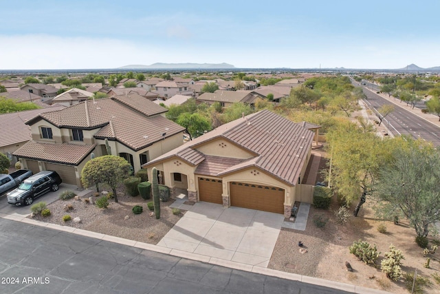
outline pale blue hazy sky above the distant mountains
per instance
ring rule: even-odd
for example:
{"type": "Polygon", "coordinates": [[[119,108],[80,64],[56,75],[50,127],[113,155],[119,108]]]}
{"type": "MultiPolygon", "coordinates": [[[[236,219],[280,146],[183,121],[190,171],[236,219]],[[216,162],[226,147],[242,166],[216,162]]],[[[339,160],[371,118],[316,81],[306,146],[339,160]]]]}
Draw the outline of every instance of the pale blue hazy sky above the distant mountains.
{"type": "Polygon", "coordinates": [[[0,70],[440,66],[440,1],[1,1],[0,70]]]}

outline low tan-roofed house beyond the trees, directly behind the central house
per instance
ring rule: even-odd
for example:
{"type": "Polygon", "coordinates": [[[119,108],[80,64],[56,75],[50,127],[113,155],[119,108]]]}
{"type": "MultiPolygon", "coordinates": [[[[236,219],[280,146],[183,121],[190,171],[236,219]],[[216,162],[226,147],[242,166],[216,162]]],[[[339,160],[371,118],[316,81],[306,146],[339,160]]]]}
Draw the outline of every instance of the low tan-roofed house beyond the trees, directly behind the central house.
{"type": "Polygon", "coordinates": [[[217,90],[214,93],[203,93],[197,97],[197,101],[205,102],[212,105],[216,102],[221,103],[223,107],[229,107],[233,103],[248,103],[253,105],[255,103],[257,95],[252,94],[251,91],[223,91],[217,90]]]}

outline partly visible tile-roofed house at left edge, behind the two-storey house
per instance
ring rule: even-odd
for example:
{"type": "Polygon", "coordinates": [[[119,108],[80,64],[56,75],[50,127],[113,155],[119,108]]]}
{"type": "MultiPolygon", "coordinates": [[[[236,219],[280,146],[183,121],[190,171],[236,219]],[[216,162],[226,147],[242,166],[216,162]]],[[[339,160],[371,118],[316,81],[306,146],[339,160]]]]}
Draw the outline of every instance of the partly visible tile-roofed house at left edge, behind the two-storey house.
{"type": "Polygon", "coordinates": [[[26,125],[26,122],[44,112],[53,112],[64,108],[63,106],[46,106],[47,108],[26,110],[25,112],[0,114],[0,152],[8,156],[11,165],[14,165],[18,160],[17,156],[12,156],[14,151],[32,138],[30,126],[26,125]]]}

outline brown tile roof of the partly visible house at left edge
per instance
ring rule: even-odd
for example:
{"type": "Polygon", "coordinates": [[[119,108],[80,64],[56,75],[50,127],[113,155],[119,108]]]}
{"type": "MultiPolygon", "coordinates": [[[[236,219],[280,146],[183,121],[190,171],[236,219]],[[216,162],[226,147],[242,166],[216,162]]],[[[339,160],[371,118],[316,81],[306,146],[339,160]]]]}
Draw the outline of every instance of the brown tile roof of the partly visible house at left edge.
{"type": "Polygon", "coordinates": [[[43,112],[50,112],[65,108],[64,106],[34,109],[25,112],[0,115],[0,147],[28,141],[32,138],[30,126],[25,122],[43,112]]]}

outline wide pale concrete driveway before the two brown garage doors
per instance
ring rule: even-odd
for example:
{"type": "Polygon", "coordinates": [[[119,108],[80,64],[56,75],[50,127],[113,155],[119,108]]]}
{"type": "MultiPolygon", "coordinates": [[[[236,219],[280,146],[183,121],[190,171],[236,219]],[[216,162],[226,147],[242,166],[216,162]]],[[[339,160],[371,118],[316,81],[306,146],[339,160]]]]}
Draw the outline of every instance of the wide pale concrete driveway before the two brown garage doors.
{"type": "Polygon", "coordinates": [[[278,213],[197,202],[157,245],[267,267],[283,221],[278,213]]]}

